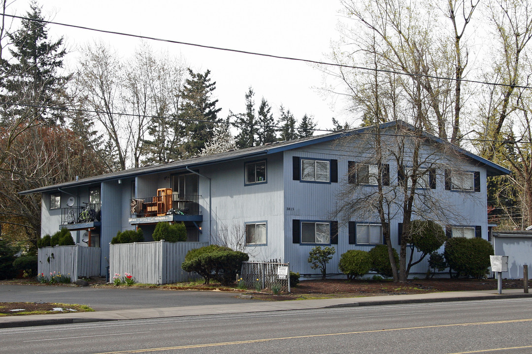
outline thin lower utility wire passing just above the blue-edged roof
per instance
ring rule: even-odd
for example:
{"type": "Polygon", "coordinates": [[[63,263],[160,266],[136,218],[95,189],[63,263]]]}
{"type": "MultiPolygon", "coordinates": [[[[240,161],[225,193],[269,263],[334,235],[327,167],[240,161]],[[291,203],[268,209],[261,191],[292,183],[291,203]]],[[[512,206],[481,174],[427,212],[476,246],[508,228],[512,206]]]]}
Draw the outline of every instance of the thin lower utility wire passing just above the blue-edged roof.
{"type": "MultiPolygon", "coordinates": [[[[213,122],[212,120],[206,120],[206,119],[194,119],[194,118],[178,118],[178,117],[162,117],[162,116],[154,116],[154,115],[143,115],[143,114],[134,114],[134,113],[115,113],[115,112],[108,112],[108,111],[101,111],[101,110],[92,110],[92,109],[81,109],[81,108],[68,108],[68,107],[53,107],[53,106],[41,106],[41,105],[29,105],[26,103],[12,103],[12,102],[2,102],[0,101],[0,105],[11,105],[11,106],[23,106],[23,107],[31,107],[31,108],[51,108],[51,109],[59,109],[59,110],[67,110],[67,111],[75,111],[79,113],[93,113],[93,114],[110,114],[110,115],[117,115],[117,116],[127,116],[127,117],[142,117],[142,118],[152,118],[152,119],[173,119],[173,120],[179,120],[181,122],[197,122],[197,123],[208,123],[208,124],[227,124],[227,125],[243,125],[243,126],[256,126],[256,127],[271,127],[276,128],[282,131],[282,129],[285,129],[284,126],[278,126],[278,125],[264,125],[264,124],[251,124],[251,123],[245,123],[245,122],[226,122],[226,121],[219,121],[219,122],[213,122]]],[[[76,118],[73,118],[76,119],[76,118]]],[[[297,127],[294,127],[295,130],[303,130],[303,131],[313,131],[313,132],[327,132],[327,133],[346,133],[345,130],[329,130],[329,129],[319,129],[319,128],[305,128],[300,129],[297,127]]],[[[357,128],[353,128],[357,129],[357,128]]],[[[0,131],[2,132],[2,131],[0,131]]],[[[3,131],[6,132],[6,131],[3,131]]],[[[388,133],[373,133],[373,132],[358,132],[357,134],[365,134],[365,135],[382,135],[382,136],[394,136],[394,137],[412,137],[412,135],[406,135],[406,134],[388,134],[388,133]]],[[[437,139],[443,139],[436,136],[437,139]]],[[[477,141],[477,142],[494,142],[494,143],[506,143],[506,144],[516,144],[516,141],[508,141],[508,140],[491,140],[491,139],[472,139],[472,138],[466,138],[461,137],[457,140],[463,140],[463,141],[477,141]]],[[[532,142],[522,142],[522,143],[532,143],[532,142]]]]}

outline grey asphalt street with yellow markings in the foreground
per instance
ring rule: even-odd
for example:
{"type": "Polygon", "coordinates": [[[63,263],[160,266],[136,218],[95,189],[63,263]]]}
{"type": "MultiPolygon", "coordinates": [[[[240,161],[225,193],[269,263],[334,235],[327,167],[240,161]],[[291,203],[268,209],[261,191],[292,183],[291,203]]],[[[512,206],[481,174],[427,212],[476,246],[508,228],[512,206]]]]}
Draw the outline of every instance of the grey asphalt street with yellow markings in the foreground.
{"type": "Polygon", "coordinates": [[[532,299],[309,309],[0,330],[2,353],[530,353],[532,299]],[[28,333],[31,333],[28,335],[28,333]]]}

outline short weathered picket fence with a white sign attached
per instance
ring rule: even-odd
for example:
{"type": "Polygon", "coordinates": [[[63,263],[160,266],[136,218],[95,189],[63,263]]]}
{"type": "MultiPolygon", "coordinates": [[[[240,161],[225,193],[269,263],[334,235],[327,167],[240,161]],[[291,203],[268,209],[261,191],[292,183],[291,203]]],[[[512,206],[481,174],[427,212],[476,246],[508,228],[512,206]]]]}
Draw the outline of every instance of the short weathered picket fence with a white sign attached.
{"type": "Polygon", "coordinates": [[[277,287],[279,292],[290,292],[290,263],[242,262],[238,281],[248,289],[270,289],[277,287]],[[242,280],[240,280],[242,278],[242,280]]]}

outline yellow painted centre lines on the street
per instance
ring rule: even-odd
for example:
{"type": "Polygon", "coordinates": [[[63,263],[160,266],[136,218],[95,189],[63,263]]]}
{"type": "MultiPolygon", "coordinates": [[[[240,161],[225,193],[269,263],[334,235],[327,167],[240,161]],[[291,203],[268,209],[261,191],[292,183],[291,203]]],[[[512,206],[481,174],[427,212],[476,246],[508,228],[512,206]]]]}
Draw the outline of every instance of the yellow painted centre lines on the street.
{"type": "MultiPolygon", "coordinates": [[[[453,327],[453,326],[478,326],[478,325],[486,325],[486,324],[516,323],[516,322],[532,322],[532,318],[525,318],[523,320],[506,320],[506,321],[488,321],[488,322],[472,322],[472,323],[439,324],[439,325],[433,325],[433,326],[403,327],[403,328],[393,328],[393,329],[387,329],[387,330],[383,329],[383,330],[357,331],[357,332],[296,335],[296,336],[292,336],[292,337],[252,339],[252,340],[247,340],[247,341],[219,342],[219,343],[206,343],[206,344],[191,344],[189,346],[151,348],[151,349],[136,349],[136,350],[123,350],[123,351],[109,351],[109,352],[97,353],[97,354],[144,353],[144,352],[150,352],[150,351],[165,351],[165,350],[188,349],[188,348],[206,348],[206,347],[217,347],[217,346],[231,346],[231,345],[235,345],[235,344],[260,343],[260,342],[277,341],[277,340],[285,340],[285,339],[316,338],[316,337],[345,335],[345,334],[392,332],[392,331],[418,330],[418,329],[438,328],[438,327],[453,327]]],[[[518,348],[532,348],[532,346],[530,346],[530,347],[506,348],[506,349],[518,349],[518,348]]],[[[488,349],[488,350],[468,351],[468,352],[463,352],[463,353],[452,353],[452,354],[479,353],[479,352],[483,352],[483,351],[495,351],[495,350],[503,350],[503,349],[488,349]]]]}

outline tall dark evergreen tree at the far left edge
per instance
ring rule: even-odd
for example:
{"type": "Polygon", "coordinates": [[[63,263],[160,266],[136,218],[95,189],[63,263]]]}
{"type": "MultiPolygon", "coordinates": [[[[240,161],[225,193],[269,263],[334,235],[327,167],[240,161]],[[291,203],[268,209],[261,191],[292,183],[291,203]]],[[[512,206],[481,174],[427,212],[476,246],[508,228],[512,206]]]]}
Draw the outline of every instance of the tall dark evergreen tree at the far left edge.
{"type": "Polygon", "coordinates": [[[49,123],[63,122],[60,108],[64,106],[64,86],[70,76],[61,76],[57,71],[63,66],[66,54],[63,38],[48,40],[48,31],[41,8],[30,3],[26,14],[29,20],[21,20],[21,28],[9,34],[12,48],[11,64],[7,64],[7,78],[3,82],[3,123],[49,123]]]}

